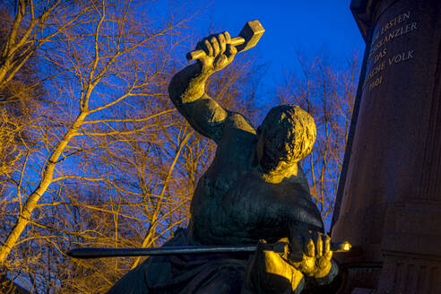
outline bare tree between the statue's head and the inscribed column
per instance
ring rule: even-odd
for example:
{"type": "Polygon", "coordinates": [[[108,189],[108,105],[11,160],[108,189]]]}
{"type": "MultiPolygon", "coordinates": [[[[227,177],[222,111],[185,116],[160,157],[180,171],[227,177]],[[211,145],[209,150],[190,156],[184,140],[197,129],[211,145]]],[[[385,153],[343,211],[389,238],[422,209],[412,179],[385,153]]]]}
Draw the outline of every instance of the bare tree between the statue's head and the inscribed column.
{"type": "Polygon", "coordinates": [[[278,88],[278,98],[281,103],[293,103],[306,109],[316,121],[316,144],[302,165],[326,224],[331,220],[342,169],[359,57],[354,54],[346,64],[337,65],[324,56],[307,57],[298,53],[298,62],[301,73],[285,74],[285,83],[278,88]]]}

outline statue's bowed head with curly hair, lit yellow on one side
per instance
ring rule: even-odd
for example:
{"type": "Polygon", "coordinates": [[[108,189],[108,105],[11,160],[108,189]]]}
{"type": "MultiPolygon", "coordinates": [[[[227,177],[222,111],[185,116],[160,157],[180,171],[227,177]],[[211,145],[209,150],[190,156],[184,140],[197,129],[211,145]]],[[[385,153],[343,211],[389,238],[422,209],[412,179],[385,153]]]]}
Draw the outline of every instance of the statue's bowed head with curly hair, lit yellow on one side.
{"type": "Polygon", "coordinates": [[[272,108],[257,129],[257,159],[265,172],[288,168],[303,159],[316,141],[316,124],[296,105],[272,108]]]}

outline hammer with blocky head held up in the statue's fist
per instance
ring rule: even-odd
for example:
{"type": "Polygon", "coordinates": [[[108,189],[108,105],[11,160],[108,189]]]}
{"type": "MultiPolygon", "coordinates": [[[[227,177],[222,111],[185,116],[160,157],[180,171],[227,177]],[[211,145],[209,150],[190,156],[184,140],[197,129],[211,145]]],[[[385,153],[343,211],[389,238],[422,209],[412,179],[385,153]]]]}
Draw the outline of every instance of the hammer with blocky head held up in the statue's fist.
{"type": "MultiPolygon", "coordinates": [[[[229,40],[229,44],[235,46],[238,52],[245,51],[249,48],[255,47],[260,37],[264,34],[264,27],[259,21],[254,20],[246,22],[244,28],[240,30],[238,37],[229,40]]],[[[205,51],[195,50],[186,54],[186,59],[192,61],[205,56],[205,51]]]]}

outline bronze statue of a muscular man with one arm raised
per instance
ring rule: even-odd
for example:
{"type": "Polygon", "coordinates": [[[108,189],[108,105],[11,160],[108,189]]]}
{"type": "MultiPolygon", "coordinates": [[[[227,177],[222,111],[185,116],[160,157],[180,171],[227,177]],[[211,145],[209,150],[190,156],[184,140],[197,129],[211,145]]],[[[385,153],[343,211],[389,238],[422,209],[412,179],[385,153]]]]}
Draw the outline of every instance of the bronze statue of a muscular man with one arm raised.
{"type": "Polygon", "coordinates": [[[228,32],[203,39],[198,61],[177,73],[169,97],[193,128],[218,148],[199,179],[188,229],[165,246],[255,245],[253,255],[151,257],[108,293],[300,293],[335,280],[331,239],[298,160],[316,140],[314,119],[294,105],[272,108],[257,129],[204,92],[212,73],[237,53],[228,32]],[[284,253],[264,250],[285,241],[284,253]]]}

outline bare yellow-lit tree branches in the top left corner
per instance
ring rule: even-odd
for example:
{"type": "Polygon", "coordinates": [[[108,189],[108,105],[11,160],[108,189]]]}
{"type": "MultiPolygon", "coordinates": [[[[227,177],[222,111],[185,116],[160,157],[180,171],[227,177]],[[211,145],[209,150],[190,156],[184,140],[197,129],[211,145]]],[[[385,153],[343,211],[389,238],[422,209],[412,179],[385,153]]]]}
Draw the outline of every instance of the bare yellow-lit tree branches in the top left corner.
{"type": "Polygon", "coordinates": [[[92,9],[93,5],[69,0],[4,1],[0,15],[0,89],[13,80],[40,48],[77,26],[92,9]]]}

